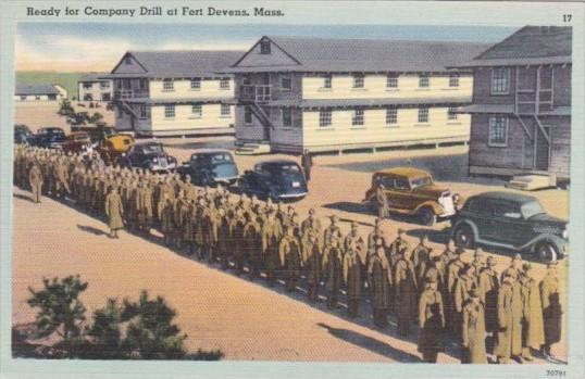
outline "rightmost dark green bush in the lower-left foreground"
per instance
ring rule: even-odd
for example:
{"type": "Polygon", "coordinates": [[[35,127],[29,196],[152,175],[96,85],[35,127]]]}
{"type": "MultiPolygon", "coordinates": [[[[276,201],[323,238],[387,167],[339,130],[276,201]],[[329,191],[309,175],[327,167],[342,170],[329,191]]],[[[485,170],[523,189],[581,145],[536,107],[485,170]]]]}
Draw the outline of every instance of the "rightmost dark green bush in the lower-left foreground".
{"type": "Polygon", "coordinates": [[[138,302],[124,301],[123,319],[129,323],[123,346],[130,356],[142,359],[179,359],[186,354],[183,342],[187,338],[173,324],[176,312],[162,296],[148,299],[142,291],[138,302]]]}

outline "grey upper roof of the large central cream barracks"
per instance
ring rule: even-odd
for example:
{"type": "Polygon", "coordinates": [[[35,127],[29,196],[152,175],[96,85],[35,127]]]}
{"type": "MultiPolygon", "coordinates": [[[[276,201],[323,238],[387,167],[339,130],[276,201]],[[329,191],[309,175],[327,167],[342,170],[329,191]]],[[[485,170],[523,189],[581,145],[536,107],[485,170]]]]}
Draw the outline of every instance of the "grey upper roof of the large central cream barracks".
{"type": "MultiPolygon", "coordinates": [[[[297,72],[443,72],[466,62],[489,47],[486,43],[263,37],[288,54],[297,72]],[[298,62],[294,64],[292,62],[298,62]]],[[[231,72],[254,71],[234,65],[231,72]]],[[[258,70],[257,70],[258,71],[258,70]]]]}

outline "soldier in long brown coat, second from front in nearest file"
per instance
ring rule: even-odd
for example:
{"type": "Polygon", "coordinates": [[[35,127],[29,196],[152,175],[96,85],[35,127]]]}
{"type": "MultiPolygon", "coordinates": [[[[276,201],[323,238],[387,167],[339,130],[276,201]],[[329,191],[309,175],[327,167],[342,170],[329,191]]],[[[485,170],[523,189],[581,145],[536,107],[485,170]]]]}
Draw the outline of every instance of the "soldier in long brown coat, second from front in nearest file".
{"type": "Polygon", "coordinates": [[[410,260],[410,252],[402,248],[400,258],[396,262],[394,277],[395,307],[398,316],[398,333],[408,336],[410,323],[416,318],[416,276],[410,260]]]}

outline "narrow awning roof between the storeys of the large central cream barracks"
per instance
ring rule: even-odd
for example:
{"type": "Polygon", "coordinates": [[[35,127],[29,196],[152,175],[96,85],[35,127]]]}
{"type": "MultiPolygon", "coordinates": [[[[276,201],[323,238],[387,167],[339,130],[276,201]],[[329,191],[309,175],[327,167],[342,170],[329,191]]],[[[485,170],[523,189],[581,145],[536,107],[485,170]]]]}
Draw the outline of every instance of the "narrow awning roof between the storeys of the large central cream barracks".
{"type": "Polygon", "coordinates": [[[468,104],[471,97],[445,97],[445,98],[413,98],[413,99],[284,99],[270,102],[274,106],[299,106],[299,108],[343,108],[343,106],[387,106],[387,105],[421,105],[421,104],[468,104]]]}

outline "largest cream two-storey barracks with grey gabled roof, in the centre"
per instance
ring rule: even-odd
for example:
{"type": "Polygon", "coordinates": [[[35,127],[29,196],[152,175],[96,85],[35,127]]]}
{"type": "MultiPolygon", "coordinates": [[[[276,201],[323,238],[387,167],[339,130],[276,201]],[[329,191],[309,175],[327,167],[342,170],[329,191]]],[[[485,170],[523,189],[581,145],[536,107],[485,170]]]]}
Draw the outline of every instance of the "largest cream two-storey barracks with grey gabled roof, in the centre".
{"type": "Polygon", "coordinates": [[[486,45],[262,37],[226,71],[238,144],[298,153],[466,143],[468,62],[486,45]]]}

